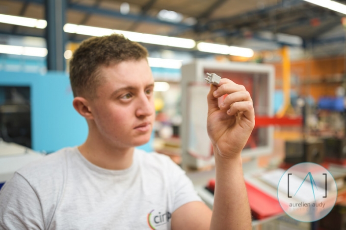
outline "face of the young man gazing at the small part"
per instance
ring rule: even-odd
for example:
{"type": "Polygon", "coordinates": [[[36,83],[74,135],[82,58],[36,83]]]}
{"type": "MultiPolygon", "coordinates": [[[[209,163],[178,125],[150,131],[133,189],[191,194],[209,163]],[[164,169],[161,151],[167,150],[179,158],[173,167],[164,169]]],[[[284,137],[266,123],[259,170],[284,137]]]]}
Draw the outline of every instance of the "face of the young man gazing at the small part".
{"type": "Polygon", "coordinates": [[[90,107],[96,128],[117,147],[145,144],[155,120],[154,78],[145,59],[103,67],[102,84],[90,107]]]}

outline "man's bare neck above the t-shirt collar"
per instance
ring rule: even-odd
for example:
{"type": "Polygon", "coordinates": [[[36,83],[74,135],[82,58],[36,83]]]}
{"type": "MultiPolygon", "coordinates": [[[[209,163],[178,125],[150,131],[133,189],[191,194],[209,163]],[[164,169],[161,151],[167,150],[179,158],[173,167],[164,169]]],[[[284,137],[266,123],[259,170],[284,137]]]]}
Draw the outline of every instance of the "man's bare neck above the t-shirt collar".
{"type": "Polygon", "coordinates": [[[99,137],[91,137],[89,133],[86,141],[78,147],[86,160],[99,167],[111,170],[122,170],[132,165],[134,147],[117,148],[99,137]]]}

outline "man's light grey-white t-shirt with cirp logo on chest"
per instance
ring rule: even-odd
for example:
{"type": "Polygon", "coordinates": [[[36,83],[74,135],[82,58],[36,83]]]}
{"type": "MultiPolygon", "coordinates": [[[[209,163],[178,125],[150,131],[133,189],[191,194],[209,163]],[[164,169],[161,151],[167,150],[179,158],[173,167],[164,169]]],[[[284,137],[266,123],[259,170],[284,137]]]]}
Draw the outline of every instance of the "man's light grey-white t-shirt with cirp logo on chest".
{"type": "Polygon", "coordinates": [[[108,170],[64,148],[18,170],[0,190],[0,229],[170,230],[171,215],[201,201],[168,157],[135,149],[133,164],[108,170]]]}

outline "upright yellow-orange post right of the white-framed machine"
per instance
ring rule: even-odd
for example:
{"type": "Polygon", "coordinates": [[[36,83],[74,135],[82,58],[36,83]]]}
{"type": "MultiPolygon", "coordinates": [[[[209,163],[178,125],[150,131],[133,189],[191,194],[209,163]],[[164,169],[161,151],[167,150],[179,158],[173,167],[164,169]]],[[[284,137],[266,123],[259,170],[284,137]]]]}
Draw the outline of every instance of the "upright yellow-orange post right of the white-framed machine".
{"type": "Polygon", "coordinates": [[[282,47],[282,90],[284,94],[284,104],[276,113],[277,117],[283,117],[291,106],[291,60],[289,46],[282,47]]]}

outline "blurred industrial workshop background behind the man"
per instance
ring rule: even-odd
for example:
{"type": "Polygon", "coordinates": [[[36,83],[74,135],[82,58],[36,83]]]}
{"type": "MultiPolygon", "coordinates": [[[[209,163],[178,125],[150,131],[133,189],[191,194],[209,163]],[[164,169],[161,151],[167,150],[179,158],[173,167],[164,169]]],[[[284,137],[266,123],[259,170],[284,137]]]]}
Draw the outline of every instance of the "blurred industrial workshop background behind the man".
{"type": "Polygon", "coordinates": [[[85,140],[69,60],[81,41],[114,32],[148,49],[156,81],[156,123],[140,148],[182,166],[208,206],[207,72],[254,101],[242,153],[253,229],[346,229],[346,0],[0,0],[0,187],[85,140]],[[312,223],[286,215],[263,176],[307,161],[337,185],[335,207],[312,223]]]}

